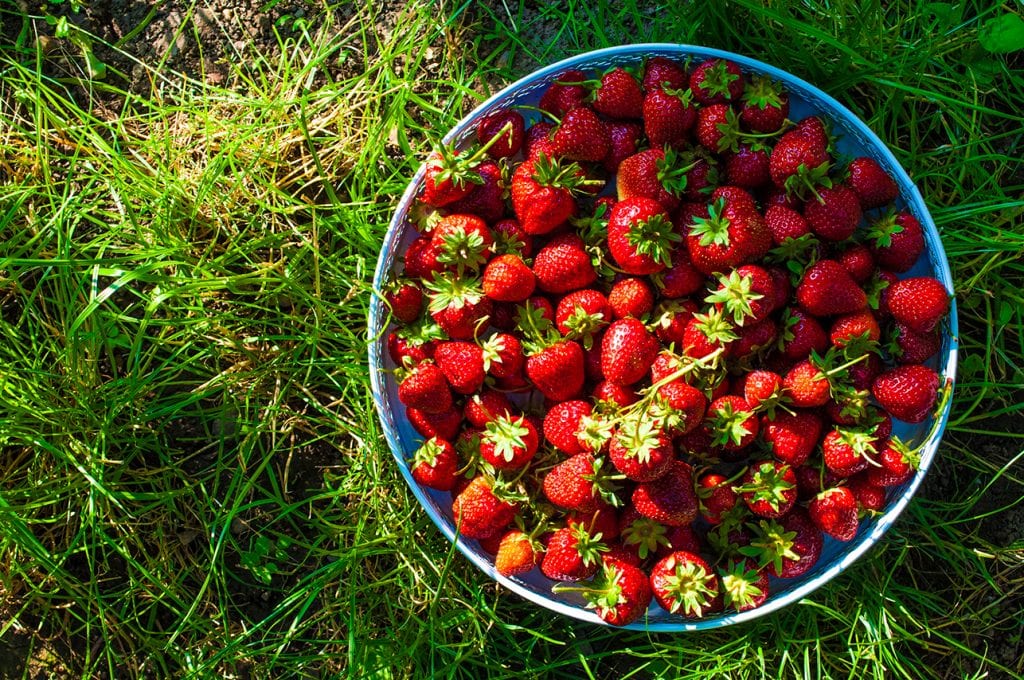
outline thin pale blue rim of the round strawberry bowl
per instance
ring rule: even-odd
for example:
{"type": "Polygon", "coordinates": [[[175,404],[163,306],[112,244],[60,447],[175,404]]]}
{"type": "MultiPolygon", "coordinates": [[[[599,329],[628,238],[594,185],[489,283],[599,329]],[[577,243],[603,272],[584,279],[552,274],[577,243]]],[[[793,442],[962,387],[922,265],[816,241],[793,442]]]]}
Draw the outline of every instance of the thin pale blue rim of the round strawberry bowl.
{"type": "MultiPolygon", "coordinates": [[[[658,622],[651,623],[647,621],[646,617],[629,624],[627,626],[616,627],[624,630],[641,630],[648,632],[662,632],[662,633],[674,633],[683,631],[696,631],[696,630],[710,630],[715,628],[721,628],[725,626],[731,626],[734,624],[744,623],[752,621],[754,619],[764,617],[768,613],[782,609],[783,607],[799,602],[803,600],[807,595],[817,590],[821,586],[825,585],[831,581],[835,577],[839,576],[843,570],[849,567],[853,562],[861,557],[867,550],[869,550],[876,543],[878,543],[882,537],[889,530],[892,524],[900,516],[906,506],[909,504],[910,500],[913,498],[918,488],[920,487],[928,469],[931,467],[932,461],[938,451],[939,443],[942,438],[942,434],[945,430],[945,426],[949,419],[950,410],[952,407],[952,390],[955,385],[956,377],[956,364],[958,354],[958,323],[956,315],[956,301],[955,297],[952,295],[953,283],[952,273],[949,268],[949,262],[945,253],[945,249],[942,247],[941,238],[938,228],[931,216],[928,206],[925,203],[924,197],[918,185],[911,180],[909,174],[903,168],[902,164],[896,159],[893,152],[889,146],[882,141],[882,139],[871,130],[867,125],[861,121],[861,119],[851,112],[847,107],[842,104],[836,98],[834,98],[828,93],[824,92],[820,88],[806,80],[795,76],[788,72],[782,71],[777,67],[773,67],[769,63],[765,63],[759,59],[749,57],[743,54],[737,54],[734,52],[714,48],[706,47],[700,45],[691,45],[685,43],[633,43],[628,45],[618,45],[613,47],[605,47],[597,50],[591,50],[587,52],[581,52],[572,56],[565,57],[553,63],[550,63],[542,69],[534,71],[522,78],[517,79],[515,82],[502,88],[500,91],[494,95],[486,98],[484,101],[479,103],[473,109],[472,112],[463,117],[453,128],[444,135],[442,141],[444,143],[450,143],[464,134],[466,134],[471,127],[475,124],[476,120],[481,115],[481,112],[495,108],[496,104],[502,102],[504,99],[508,98],[510,94],[524,88],[526,85],[543,81],[545,79],[556,76],[557,74],[566,71],[568,69],[577,67],[586,67],[595,60],[605,58],[605,57],[635,57],[635,56],[648,56],[651,53],[674,55],[678,57],[698,57],[698,58],[723,58],[729,59],[736,62],[741,68],[748,71],[754,71],[758,73],[765,74],[772,78],[773,80],[780,81],[783,83],[795,84],[798,88],[806,90],[813,93],[817,98],[819,98],[823,103],[825,103],[829,109],[835,110],[842,115],[846,123],[849,123],[854,127],[858,133],[863,135],[866,140],[871,144],[872,152],[878,153],[885,158],[890,169],[892,169],[898,176],[896,177],[898,184],[901,189],[907,189],[909,196],[906,196],[907,206],[913,206],[913,212],[919,217],[919,221],[922,222],[922,227],[926,231],[926,238],[933,241],[939,246],[938,252],[932,253],[931,262],[935,267],[934,275],[942,282],[946,290],[950,293],[950,308],[945,325],[947,328],[947,338],[949,342],[948,353],[946,355],[946,360],[944,366],[939,367],[939,372],[941,376],[945,377],[945,387],[950,391],[949,398],[945,399],[945,405],[941,412],[936,415],[935,423],[932,431],[928,434],[928,438],[923,442],[921,465],[918,472],[907,483],[906,486],[902,488],[902,493],[898,498],[895,498],[886,509],[884,513],[877,516],[871,524],[870,528],[864,534],[860,535],[858,533],[857,543],[849,548],[844,553],[837,556],[833,563],[827,565],[826,568],[817,571],[814,576],[807,580],[806,583],[800,584],[792,589],[786,590],[778,597],[769,597],[768,600],[761,606],[754,609],[748,609],[740,612],[732,612],[722,615],[716,615],[710,619],[701,620],[683,620],[680,619],[672,622],[658,622]]],[[[833,117],[831,112],[824,112],[833,117]]],[[[374,403],[376,407],[377,415],[381,425],[383,426],[384,436],[387,440],[388,447],[391,450],[392,456],[398,463],[399,471],[406,479],[407,484],[412,490],[417,501],[423,506],[424,510],[427,511],[428,516],[434,522],[434,524],[440,529],[441,534],[453,544],[453,546],[458,549],[465,557],[467,557],[473,564],[475,564],[479,569],[481,569],[488,577],[497,581],[499,584],[508,588],[509,590],[515,592],[519,596],[525,598],[526,600],[540,604],[545,608],[556,611],[558,613],[577,619],[580,621],[586,621],[589,623],[605,625],[603,620],[601,620],[593,610],[583,609],[575,605],[559,602],[557,600],[549,599],[540,596],[535,591],[531,591],[514,580],[508,579],[500,573],[498,573],[494,564],[485,559],[481,558],[475,551],[473,551],[465,542],[462,537],[457,537],[455,527],[452,526],[444,517],[435,516],[435,513],[430,511],[432,502],[427,498],[426,492],[420,486],[420,484],[413,478],[412,473],[404,458],[404,449],[401,441],[397,436],[397,432],[394,427],[390,424],[391,413],[388,410],[385,399],[381,397],[386,389],[386,384],[383,378],[384,375],[384,363],[382,360],[382,338],[387,331],[387,324],[384,323],[386,320],[386,308],[382,302],[383,287],[386,283],[387,277],[393,266],[393,259],[388,257],[389,251],[387,245],[392,243],[393,240],[400,236],[404,228],[403,221],[403,210],[402,206],[411,205],[412,201],[415,199],[416,195],[419,193],[420,184],[422,182],[423,176],[425,174],[425,165],[421,164],[419,170],[416,172],[410,183],[408,184],[406,192],[402,194],[399,202],[397,204],[398,208],[395,210],[391,221],[388,224],[388,229],[384,237],[383,248],[381,250],[380,256],[377,261],[377,266],[374,271],[373,281],[373,294],[371,295],[370,310],[368,314],[369,322],[369,336],[370,336],[370,347],[369,347],[369,365],[370,365],[370,380],[371,389],[373,393],[374,403]]],[[[930,244],[931,246],[931,244],[930,244]]]]}

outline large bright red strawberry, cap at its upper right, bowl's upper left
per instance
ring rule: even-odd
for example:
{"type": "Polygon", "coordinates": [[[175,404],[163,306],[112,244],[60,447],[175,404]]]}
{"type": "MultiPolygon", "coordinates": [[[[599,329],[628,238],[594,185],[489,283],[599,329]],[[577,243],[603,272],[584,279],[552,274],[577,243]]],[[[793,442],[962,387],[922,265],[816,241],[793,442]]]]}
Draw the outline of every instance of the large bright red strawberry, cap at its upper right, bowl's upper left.
{"type": "Polygon", "coordinates": [[[520,163],[512,173],[512,210],[523,231],[548,233],[564,224],[575,214],[573,197],[584,180],[579,165],[543,153],[520,163]]]}

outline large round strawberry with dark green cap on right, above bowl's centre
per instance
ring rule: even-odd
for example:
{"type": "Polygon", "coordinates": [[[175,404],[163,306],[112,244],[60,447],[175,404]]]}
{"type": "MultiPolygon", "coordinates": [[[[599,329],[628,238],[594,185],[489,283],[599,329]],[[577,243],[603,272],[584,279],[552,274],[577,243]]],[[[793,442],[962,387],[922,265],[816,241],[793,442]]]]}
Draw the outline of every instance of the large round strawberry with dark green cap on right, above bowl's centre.
{"type": "Polygon", "coordinates": [[[679,235],[654,199],[634,196],[618,201],[608,216],[607,228],[608,252],[626,273],[649,274],[672,264],[679,235]]]}

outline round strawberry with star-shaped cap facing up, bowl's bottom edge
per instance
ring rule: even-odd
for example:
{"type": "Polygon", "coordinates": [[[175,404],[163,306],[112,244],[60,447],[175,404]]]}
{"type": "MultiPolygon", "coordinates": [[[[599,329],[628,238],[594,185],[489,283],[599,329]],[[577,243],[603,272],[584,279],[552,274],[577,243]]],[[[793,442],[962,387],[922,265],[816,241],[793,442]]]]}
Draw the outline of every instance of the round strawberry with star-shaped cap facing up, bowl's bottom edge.
{"type": "Polygon", "coordinates": [[[651,567],[650,586],[662,608],[687,619],[709,613],[719,597],[718,576],[708,562],[681,550],[651,567]]]}

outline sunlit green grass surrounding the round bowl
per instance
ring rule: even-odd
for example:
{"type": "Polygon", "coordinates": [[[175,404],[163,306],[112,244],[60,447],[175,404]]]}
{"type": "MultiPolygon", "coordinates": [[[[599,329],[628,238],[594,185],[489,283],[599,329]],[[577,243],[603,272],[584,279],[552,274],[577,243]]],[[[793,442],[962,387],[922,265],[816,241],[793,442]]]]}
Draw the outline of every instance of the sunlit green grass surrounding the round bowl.
{"type": "Polygon", "coordinates": [[[144,96],[110,46],[91,79],[80,43],[44,53],[43,22],[0,11],[27,29],[0,52],[0,675],[1024,674],[1024,79],[979,42],[1019,5],[317,4],[221,86],[144,65],[144,96]],[[638,38],[756,56],[858,113],[919,182],[961,309],[952,418],[886,540],[701,635],[489,583],[404,487],[368,394],[369,282],[430,140],[540,65],[638,38]]]}

